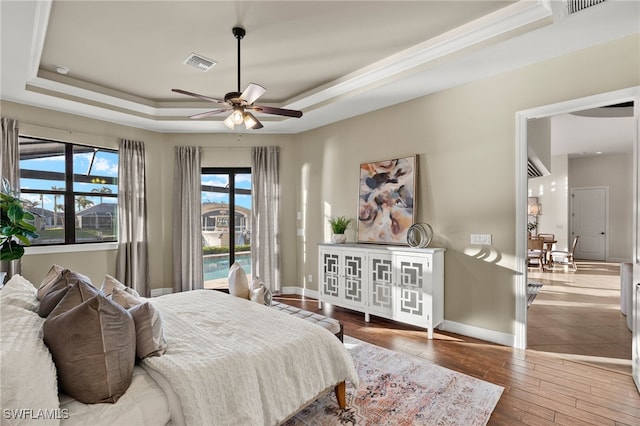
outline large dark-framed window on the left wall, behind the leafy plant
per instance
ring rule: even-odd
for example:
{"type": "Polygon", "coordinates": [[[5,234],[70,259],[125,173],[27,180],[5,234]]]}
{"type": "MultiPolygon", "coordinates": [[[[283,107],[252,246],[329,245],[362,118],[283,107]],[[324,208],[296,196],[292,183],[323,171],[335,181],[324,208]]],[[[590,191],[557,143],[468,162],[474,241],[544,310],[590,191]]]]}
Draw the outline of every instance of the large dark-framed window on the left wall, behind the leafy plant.
{"type": "Polygon", "coordinates": [[[19,138],[20,192],[36,217],[33,245],[118,238],[118,152],[19,138]]]}

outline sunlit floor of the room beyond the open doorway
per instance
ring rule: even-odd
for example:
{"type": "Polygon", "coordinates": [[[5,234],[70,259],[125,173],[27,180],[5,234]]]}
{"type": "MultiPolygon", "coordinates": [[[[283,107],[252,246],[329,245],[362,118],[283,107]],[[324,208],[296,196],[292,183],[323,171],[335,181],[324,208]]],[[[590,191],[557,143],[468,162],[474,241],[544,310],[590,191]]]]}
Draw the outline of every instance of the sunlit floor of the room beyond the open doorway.
{"type": "Polygon", "coordinates": [[[529,270],[543,287],[528,310],[527,347],[631,374],[631,331],[620,310],[620,264],[529,270]]]}

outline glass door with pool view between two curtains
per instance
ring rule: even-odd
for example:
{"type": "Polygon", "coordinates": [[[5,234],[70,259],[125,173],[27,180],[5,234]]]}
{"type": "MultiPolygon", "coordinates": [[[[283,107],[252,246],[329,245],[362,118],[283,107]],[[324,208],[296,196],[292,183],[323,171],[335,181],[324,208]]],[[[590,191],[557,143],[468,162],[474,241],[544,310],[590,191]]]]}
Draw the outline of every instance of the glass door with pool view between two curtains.
{"type": "Polygon", "coordinates": [[[205,288],[228,288],[229,266],[251,276],[251,169],[202,169],[202,266],[205,288]]]}

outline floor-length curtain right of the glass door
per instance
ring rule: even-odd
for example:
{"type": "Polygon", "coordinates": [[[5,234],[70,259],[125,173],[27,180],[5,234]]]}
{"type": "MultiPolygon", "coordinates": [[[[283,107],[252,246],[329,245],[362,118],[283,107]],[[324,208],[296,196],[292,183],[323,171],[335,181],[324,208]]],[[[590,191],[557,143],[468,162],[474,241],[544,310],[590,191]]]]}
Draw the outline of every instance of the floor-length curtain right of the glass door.
{"type": "Polygon", "coordinates": [[[280,293],[280,149],[251,150],[252,274],[273,293],[280,293]]]}

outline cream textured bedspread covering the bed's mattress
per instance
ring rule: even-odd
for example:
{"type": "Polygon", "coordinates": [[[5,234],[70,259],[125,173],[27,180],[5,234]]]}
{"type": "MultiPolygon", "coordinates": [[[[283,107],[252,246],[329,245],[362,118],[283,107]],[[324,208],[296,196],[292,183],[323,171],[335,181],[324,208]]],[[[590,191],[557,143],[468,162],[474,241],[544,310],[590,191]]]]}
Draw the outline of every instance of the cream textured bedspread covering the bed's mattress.
{"type": "Polygon", "coordinates": [[[341,342],[299,318],[211,290],[153,303],[168,348],[142,365],[175,391],[184,418],[172,414],[174,424],[274,425],[337,383],[358,381],[341,342]]]}

